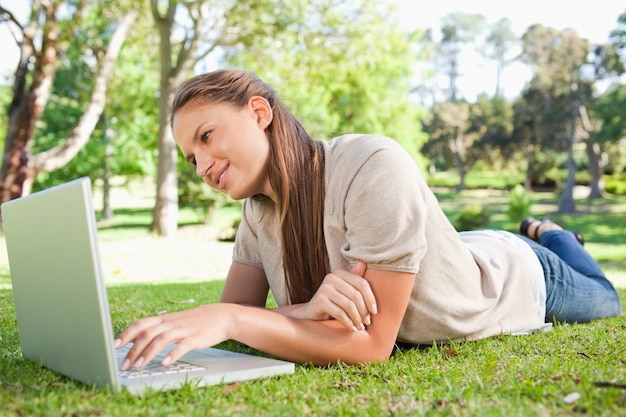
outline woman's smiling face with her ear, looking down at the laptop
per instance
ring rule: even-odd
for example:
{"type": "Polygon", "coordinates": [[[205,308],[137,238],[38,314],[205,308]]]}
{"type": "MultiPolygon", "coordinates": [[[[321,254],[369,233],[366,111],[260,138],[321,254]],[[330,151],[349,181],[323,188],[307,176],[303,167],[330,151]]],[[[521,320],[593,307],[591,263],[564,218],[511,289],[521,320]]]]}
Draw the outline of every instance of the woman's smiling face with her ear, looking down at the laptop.
{"type": "Polygon", "coordinates": [[[185,159],[211,187],[235,200],[264,194],[276,201],[267,173],[271,121],[269,103],[255,96],[242,108],[189,102],[172,129],[185,159]]]}

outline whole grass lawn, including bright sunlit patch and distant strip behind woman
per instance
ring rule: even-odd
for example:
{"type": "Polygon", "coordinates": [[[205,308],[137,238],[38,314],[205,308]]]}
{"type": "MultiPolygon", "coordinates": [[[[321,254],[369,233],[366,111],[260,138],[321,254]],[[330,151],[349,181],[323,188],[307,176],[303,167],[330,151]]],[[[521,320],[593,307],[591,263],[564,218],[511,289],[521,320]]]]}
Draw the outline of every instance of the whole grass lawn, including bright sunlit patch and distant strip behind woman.
{"type": "MultiPolygon", "coordinates": [[[[515,228],[502,214],[506,196],[501,192],[441,191],[438,196],[451,218],[463,206],[480,202],[490,208],[490,227],[515,228]]],[[[549,215],[585,235],[586,245],[601,259],[626,303],[626,199],[581,202],[579,213],[573,216],[554,215],[551,194],[537,194],[533,199],[533,215],[549,215]]],[[[194,225],[192,217],[183,214],[186,226],[174,241],[147,235],[149,211],[141,208],[118,211],[116,218],[101,225],[107,260],[120,262],[106,274],[116,333],[141,316],[218,300],[223,272],[211,275],[205,270],[212,279],[203,280],[198,271],[212,264],[199,263],[195,268],[187,264],[197,261],[197,253],[215,256],[211,262],[227,261],[224,258],[231,246],[212,237],[232,220],[233,212],[220,213],[209,226],[194,225]],[[178,247],[182,249],[176,252],[178,247]],[[132,256],[119,256],[130,248],[134,248],[132,256]],[[193,252],[194,248],[199,252],[193,252]],[[185,254],[191,259],[182,258],[185,254]],[[142,256],[150,258],[146,261],[142,256]],[[133,269],[132,262],[156,264],[142,270],[152,279],[135,277],[131,272],[140,269],[133,269]],[[172,276],[158,262],[185,265],[185,269],[172,276]]],[[[0,259],[0,285],[4,283],[0,287],[1,416],[626,415],[623,315],[555,326],[551,332],[527,336],[421,348],[398,346],[390,360],[375,365],[300,365],[288,376],[201,389],[187,386],[135,397],[75,383],[25,360],[9,282],[8,267],[0,259]]],[[[222,347],[250,352],[234,342],[222,347]]]]}

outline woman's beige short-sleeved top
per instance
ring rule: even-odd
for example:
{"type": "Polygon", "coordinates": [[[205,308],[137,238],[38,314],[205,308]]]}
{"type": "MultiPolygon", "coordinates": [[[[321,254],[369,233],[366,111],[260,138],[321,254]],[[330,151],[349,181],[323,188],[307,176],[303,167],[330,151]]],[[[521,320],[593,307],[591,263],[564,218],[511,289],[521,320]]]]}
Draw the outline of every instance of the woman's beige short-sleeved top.
{"type": "MultiPolygon", "coordinates": [[[[490,234],[457,233],[397,142],[346,135],[325,150],[331,270],[363,260],[416,274],[398,340],[430,344],[541,327],[527,258],[490,234]]],[[[233,260],[263,269],[278,305],[289,304],[271,201],[244,202],[233,260]]]]}

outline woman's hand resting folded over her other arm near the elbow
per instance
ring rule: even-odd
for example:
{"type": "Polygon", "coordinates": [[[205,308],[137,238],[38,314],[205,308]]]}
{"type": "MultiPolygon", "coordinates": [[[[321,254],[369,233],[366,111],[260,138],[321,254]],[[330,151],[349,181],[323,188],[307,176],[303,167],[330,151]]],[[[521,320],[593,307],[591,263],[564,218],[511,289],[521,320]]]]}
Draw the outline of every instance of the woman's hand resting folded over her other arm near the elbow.
{"type": "Polygon", "coordinates": [[[300,307],[299,317],[309,320],[335,319],[346,328],[364,330],[377,313],[376,298],[363,276],[367,266],[357,262],[350,272],[337,270],[326,275],[308,303],[300,307]]]}

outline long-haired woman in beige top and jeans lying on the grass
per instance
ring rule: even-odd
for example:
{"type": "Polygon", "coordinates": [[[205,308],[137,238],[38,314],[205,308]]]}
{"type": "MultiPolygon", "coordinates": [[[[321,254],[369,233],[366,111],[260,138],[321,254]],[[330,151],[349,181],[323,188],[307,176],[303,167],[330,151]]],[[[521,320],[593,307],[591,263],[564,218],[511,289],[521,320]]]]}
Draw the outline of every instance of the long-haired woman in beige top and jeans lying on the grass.
{"type": "Polygon", "coordinates": [[[172,128],[199,177],[245,199],[242,221],[220,303],[135,322],[116,340],[134,342],[125,369],[172,343],[165,364],[228,339],[294,362],[367,363],[396,341],[475,340],[622,311],[576,235],[534,219],[526,236],[458,233],[398,143],[313,141],[250,73],[189,80],[172,128]],[[265,307],[270,290],[278,308],[265,307]]]}

